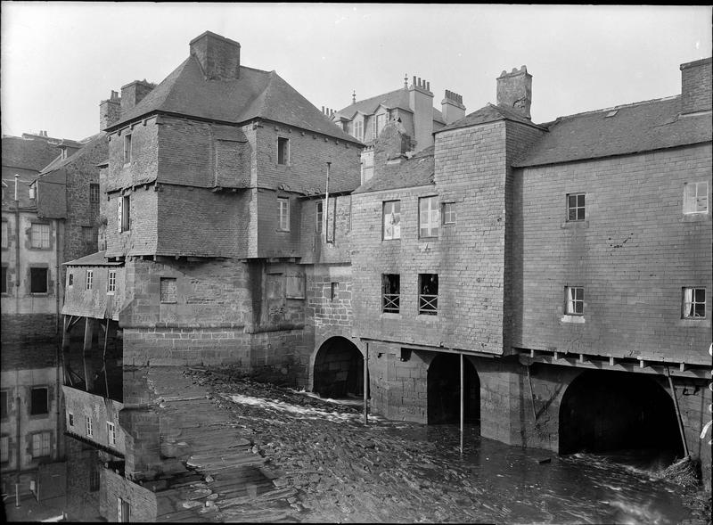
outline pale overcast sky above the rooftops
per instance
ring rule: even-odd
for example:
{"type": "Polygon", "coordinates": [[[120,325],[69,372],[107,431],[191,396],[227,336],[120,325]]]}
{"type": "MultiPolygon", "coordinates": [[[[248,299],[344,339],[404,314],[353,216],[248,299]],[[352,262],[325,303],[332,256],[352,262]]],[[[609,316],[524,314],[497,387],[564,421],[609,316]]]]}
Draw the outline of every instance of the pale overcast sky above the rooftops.
{"type": "Polygon", "coordinates": [[[2,132],[99,131],[99,102],[160,82],[205,30],[240,42],[243,65],[276,70],[339,110],[430,81],[466,113],[496,102],[502,70],[527,65],[532,119],[680,94],[679,65],[711,55],[710,6],[462,4],[2,4],[2,132]]]}

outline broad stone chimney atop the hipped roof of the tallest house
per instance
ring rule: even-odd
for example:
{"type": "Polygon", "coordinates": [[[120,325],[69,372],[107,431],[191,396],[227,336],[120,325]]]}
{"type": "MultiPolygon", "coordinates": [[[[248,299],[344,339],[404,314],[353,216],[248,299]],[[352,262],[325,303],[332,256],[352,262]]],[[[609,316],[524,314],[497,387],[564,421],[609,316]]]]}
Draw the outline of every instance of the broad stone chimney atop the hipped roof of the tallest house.
{"type": "Polygon", "coordinates": [[[210,31],[191,40],[191,56],[201,64],[208,80],[240,78],[240,44],[210,31]]]}

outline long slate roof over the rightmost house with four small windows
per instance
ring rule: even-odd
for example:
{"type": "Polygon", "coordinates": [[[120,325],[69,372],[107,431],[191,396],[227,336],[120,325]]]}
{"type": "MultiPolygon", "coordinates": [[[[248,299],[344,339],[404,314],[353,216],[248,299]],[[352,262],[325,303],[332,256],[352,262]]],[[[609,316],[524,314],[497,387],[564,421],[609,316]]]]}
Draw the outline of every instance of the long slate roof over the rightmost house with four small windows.
{"type": "Polygon", "coordinates": [[[680,116],[681,97],[633,103],[556,119],[514,166],[537,166],[650,152],[711,140],[710,112],[680,116]],[[616,114],[607,117],[612,111],[616,114]]]}

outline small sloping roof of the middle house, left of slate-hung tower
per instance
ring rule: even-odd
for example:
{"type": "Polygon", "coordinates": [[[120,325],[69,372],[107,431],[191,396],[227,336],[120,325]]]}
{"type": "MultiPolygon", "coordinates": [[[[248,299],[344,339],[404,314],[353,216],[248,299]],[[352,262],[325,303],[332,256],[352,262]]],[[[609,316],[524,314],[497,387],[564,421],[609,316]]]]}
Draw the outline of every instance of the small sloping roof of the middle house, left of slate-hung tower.
{"type": "Polygon", "coordinates": [[[434,146],[416,153],[411,159],[380,167],[372,178],[354,193],[379,192],[415,186],[432,185],[434,174],[434,146]]]}

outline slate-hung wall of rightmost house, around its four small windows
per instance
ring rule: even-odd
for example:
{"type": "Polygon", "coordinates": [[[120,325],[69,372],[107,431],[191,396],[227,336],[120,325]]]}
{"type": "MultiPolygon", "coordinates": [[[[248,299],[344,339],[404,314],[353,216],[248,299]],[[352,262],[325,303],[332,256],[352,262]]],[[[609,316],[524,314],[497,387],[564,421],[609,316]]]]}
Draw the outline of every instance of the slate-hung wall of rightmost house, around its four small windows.
{"type": "Polygon", "coordinates": [[[613,357],[710,364],[708,213],[684,215],[684,184],[708,181],[711,146],[526,168],[515,179],[512,344],[613,357]],[[566,221],[568,193],[586,220],[566,221]],[[583,322],[563,316],[583,286],[583,322]],[[684,287],[707,292],[707,316],[682,318],[684,287]]]}

